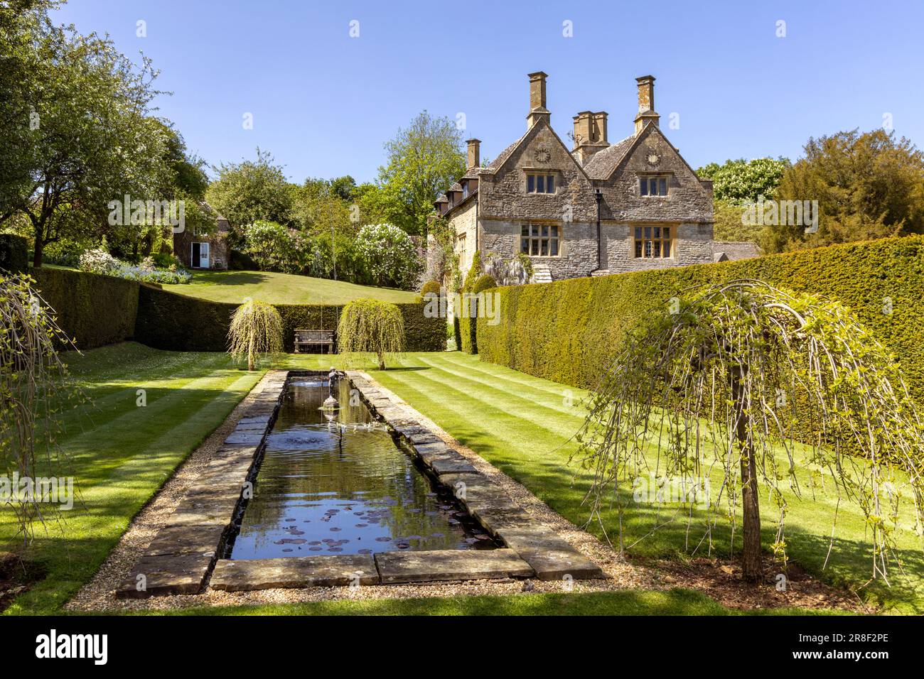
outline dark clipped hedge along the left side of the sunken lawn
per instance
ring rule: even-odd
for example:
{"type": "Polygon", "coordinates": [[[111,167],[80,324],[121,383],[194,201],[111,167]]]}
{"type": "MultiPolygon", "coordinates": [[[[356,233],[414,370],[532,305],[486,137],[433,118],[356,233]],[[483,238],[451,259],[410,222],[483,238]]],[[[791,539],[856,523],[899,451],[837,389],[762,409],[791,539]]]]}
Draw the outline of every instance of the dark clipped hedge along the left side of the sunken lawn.
{"type": "Polygon", "coordinates": [[[57,324],[79,349],[124,342],[135,333],[139,284],[97,273],[31,269],[57,324]]]}

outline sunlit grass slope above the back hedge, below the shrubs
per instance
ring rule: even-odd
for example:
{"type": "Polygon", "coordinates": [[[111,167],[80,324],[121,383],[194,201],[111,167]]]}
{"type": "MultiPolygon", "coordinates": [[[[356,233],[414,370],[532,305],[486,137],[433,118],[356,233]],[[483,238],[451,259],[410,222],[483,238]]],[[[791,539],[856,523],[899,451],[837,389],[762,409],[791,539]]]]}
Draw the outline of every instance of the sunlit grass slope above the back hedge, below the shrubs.
{"type": "Polygon", "coordinates": [[[164,290],[239,304],[253,297],[270,304],[346,304],[359,297],[386,302],[413,302],[417,293],[369,285],[354,285],[292,273],[197,271],[186,285],[164,285],[164,290]]]}

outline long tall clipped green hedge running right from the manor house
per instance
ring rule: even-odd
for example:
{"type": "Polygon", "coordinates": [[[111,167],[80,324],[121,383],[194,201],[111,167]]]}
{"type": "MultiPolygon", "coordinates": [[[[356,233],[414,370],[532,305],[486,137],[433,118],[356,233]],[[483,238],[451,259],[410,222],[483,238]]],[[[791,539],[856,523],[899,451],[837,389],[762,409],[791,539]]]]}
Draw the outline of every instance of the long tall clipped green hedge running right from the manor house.
{"type": "Polygon", "coordinates": [[[692,285],[735,278],[821,294],[853,309],[894,352],[908,388],[924,404],[924,236],[502,287],[501,322],[478,325],[480,357],[555,382],[592,387],[642,314],[663,309],[670,297],[692,285]]]}

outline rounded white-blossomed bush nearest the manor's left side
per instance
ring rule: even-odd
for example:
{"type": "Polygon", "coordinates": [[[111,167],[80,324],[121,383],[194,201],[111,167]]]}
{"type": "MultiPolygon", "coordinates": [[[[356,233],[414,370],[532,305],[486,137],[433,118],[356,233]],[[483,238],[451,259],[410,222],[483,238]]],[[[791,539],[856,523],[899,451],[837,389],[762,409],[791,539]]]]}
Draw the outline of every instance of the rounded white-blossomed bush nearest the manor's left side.
{"type": "Polygon", "coordinates": [[[368,224],[359,230],[356,241],[368,283],[406,289],[417,284],[422,262],[405,231],[393,224],[368,224]]]}

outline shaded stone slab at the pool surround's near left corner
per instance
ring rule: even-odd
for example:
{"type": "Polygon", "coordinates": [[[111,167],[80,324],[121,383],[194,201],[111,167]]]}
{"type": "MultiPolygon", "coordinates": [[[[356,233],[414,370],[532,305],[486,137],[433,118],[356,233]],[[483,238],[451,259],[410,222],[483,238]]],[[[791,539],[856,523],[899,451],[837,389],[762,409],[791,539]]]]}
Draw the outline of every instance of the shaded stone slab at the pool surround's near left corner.
{"type": "Polygon", "coordinates": [[[198,594],[213,557],[205,554],[145,555],[116,589],[119,599],[147,599],[172,594],[198,594]],[[144,588],[139,589],[139,577],[144,588]]]}

